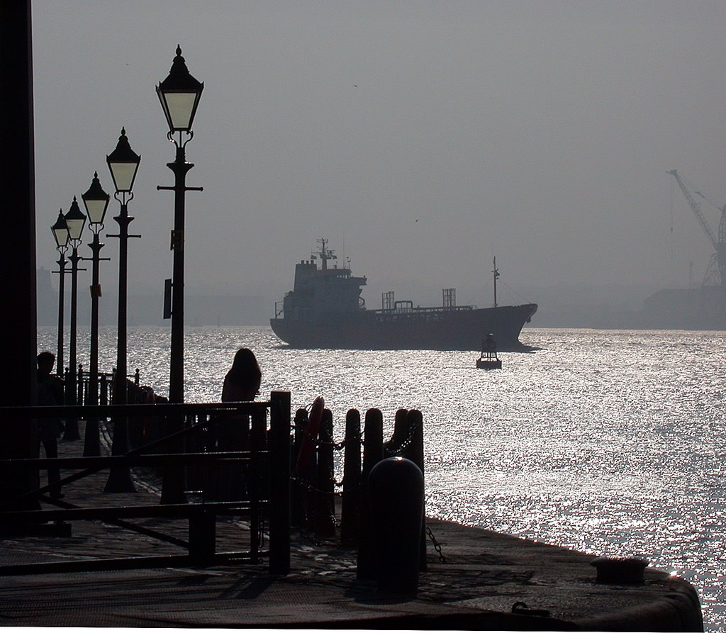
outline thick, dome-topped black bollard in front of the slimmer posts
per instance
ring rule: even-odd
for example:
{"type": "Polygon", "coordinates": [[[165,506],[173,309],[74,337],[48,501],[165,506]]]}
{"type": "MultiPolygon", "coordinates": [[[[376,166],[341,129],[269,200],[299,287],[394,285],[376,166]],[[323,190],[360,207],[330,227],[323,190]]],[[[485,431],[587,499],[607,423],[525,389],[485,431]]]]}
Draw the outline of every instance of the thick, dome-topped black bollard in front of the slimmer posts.
{"type": "Polygon", "coordinates": [[[411,460],[388,457],[368,478],[378,591],[416,595],[423,520],[423,473],[411,460]]]}

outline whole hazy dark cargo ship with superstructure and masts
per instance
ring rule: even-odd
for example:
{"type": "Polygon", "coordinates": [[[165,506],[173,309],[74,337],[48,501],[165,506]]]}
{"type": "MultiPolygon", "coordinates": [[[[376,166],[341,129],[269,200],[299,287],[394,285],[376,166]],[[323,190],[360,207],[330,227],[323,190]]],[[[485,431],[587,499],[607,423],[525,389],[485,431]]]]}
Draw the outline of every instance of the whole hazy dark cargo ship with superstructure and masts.
{"type": "Polygon", "coordinates": [[[524,324],[537,311],[536,303],[497,305],[494,260],[494,306],[457,306],[456,290],[442,291],[442,306],[422,308],[412,301],[396,301],[383,293],[380,310],[369,310],[361,296],[366,277],[354,277],[348,267],[330,267],[335,252],[325,238],[307,261],[295,264],[295,285],[282,305],[275,304],[272,330],[295,348],[330,349],[481,349],[491,333],[500,351],[525,349],[519,341],[524,324]],[[320,261],[320,267],[318,267],[320,261]]]}

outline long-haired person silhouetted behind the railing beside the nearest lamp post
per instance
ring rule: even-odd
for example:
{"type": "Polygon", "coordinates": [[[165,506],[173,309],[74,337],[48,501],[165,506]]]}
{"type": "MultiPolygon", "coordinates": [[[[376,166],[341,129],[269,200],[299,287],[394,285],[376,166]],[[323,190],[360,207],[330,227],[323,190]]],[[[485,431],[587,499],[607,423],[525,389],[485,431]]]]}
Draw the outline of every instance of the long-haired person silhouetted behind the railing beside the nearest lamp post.
{"type": "MultiPolygon", "coordinates": [[[[222,402],[245,402],[255,399],[260,391],[262,372],[255,354],[243,347],[234,354],[232,368],[224,377],[222,402]]],[[[235,415],[217,423],[217,450],[248,451],[250,449],[250,418],[235,415]]],[[[239,464],[220,467],[218,496],[227,501],[247,496],[245,467],[239,464]]]]}

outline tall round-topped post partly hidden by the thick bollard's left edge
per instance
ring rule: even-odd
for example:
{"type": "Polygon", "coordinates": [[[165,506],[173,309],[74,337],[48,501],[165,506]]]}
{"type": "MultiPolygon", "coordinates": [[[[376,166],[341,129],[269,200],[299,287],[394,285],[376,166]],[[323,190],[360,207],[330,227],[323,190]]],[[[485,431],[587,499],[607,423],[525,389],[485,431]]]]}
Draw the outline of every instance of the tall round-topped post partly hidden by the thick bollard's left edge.
{"type": "Polygon", "coordinates": [[[361,520],[358,535],[359,580],[375,579],[375,535],[370,515],[370,493],[368,475],[372,468],[383,459],[383,414],[380,409],[368,409],[365,414],[363,441],[363,485],[361,487],[361,520]]]}

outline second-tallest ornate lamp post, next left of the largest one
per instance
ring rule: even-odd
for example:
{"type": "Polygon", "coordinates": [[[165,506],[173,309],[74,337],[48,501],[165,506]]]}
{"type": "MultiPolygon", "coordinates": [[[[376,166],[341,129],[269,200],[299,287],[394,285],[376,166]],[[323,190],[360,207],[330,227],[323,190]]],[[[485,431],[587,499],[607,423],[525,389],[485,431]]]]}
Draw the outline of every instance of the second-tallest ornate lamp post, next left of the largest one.
{"type": "MultiPolygon", "coordinates": [[[[118,344],[116,346],[116,375],[113,382],[113,404],[126,404],[126,295],[127,295],[127,268],[129,258],[129,224],[134,219],[129,216],[129,201],[133,200],[134,179],[139,169],[141,156],[131,150],[129,139],[126,138],[126,129],[121,128],[118,144],[107,157],[106,162],[113,178],[116,191],[113,197],[121,204],[121,211],[114,220],[118,223],[118,344]]],[[[113,445],[111,454],[123,455],[129,450],[129,430],[127,420],[114,418],[113,445]]],[[[134,482],[131,481],[131,470],[127,466],[113,467],[108,475],[105,492],[135,492],[134,482]]]]}

